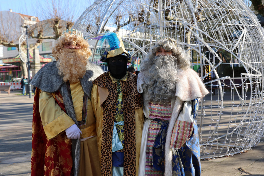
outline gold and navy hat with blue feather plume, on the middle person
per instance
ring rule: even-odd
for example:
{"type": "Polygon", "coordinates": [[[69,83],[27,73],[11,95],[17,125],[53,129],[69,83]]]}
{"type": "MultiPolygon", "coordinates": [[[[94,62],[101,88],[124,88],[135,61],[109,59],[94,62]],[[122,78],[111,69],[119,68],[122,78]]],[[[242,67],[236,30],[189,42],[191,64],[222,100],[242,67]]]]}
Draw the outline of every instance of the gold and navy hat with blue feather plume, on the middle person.
{"type": "Polygon", "coordinates": [[[123,41],[118,34],[106,31],[104,35],[93,39],[100,40],[100,45],[104,42],[104,40],[107,40],[109,43],[109,48],[106,48],[106,51],[101,56],[100,60],[102,62],[107,62],[107,58],[115,57],[117,55],[124,55],[127,58],[127,62],[131,62],[131,55],[129,51],[125,50],[123,41]]]}

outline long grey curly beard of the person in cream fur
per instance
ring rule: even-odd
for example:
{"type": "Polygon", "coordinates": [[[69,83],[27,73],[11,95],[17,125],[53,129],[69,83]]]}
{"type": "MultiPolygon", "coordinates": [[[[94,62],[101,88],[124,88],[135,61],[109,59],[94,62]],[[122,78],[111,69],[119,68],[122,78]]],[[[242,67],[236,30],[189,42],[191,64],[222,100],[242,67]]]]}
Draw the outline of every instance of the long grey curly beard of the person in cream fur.
{"type": "Polygon", "coordinates": [[[168,104],[175,95],[177,83],[177,62],[174,56],[154,56],[150,62],[141,65],[145,72],[143,90],[148,100],[160,104],[168,104]]]}

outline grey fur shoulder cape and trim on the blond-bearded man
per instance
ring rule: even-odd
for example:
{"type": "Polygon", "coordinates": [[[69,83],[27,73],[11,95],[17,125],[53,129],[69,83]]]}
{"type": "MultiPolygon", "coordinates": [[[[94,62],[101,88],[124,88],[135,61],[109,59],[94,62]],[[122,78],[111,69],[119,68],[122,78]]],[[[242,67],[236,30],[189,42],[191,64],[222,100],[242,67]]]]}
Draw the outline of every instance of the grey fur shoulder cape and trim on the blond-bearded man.
{"type": "MultiPolygon", "coordinates": [[[[66,114],[78,126],[78,121],[75,117],[75,111],[72,104],[72,97],[68,91],[66,83],[63,82],[62,77],[58,74],[56,63],[57,61],[49,62],[43,68],[41,68],[32,79],[31,84],[35,87],[38,87],[40,90],[49,93],[59,90],[63,97],[63,104],[65,106],[66,114]]],[[[84,93],[89,99],[91,99],[91,90],[93,87],[92,82],[101,74],[103,74],[101,67],[88,61],[86,74],[80,79],[80,82],[84,93]]],[[[80,140],[72,139],[72,159],[74,161],[72,168],[74,176],[78,176],[79,172],[80,145],[80,140]]]]}

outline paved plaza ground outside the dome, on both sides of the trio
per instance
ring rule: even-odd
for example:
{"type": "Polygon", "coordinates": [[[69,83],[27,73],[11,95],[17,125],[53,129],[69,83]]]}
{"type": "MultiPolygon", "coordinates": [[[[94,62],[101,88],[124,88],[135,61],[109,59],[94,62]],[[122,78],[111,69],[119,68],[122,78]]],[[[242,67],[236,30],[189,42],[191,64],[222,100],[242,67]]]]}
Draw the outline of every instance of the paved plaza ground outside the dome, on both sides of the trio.
{"type": "MultiPolygon", "coordinates": [[[[29,176],[33,95],[0,94],[0,176],[29,176]]],[[[203,160],[202,176],[264,176],[264,138],[257,147],[232,157],[203,160]]]]}

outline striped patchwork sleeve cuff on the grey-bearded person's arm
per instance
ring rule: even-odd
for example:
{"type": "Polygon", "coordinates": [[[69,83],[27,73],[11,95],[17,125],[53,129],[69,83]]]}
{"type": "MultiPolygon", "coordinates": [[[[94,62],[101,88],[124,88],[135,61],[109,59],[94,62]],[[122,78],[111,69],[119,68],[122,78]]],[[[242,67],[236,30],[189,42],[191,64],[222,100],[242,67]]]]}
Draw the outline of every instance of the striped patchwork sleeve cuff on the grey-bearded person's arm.
{"type": "Polygon", "coordinates": [[[172,131],[170,148],[180,149],[192,134],[193,123],[176,121],[172,131]]]}

